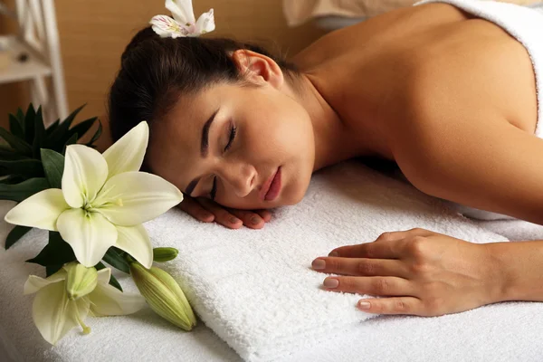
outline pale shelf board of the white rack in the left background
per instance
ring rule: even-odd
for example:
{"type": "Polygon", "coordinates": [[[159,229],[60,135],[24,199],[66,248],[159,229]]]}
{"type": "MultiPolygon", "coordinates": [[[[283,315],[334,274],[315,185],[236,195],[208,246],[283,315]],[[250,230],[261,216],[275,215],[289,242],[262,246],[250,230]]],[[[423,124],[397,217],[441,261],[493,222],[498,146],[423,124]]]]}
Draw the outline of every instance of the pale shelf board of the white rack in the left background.
{"type": "Polygon", "coordinates": [[[9,37],[8,52],[11,54],[12,62],[5,69],[0,70],[0,83],[27,81],[36,76],[51,75],[51,67],[37,58],[28,46],[14,36],[9,37]],[[25,62],[18,62],[17,57],[22,53],[26,54],[28,59],[25,62]]]}

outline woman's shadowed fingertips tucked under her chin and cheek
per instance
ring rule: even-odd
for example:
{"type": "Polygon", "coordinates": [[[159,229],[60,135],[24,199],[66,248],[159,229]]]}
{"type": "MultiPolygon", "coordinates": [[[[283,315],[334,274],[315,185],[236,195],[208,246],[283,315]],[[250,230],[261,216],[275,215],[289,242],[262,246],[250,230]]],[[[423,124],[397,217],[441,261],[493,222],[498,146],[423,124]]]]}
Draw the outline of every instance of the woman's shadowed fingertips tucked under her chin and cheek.
{"type": "Polygon", "coordinates": [[[230,229],[239,229],[243,225],[252,229],[262,229],[271,220],[268,210],[237,210],[218,205],[205,197],[183,195],[183,201],[178,207],[196,220],[204,223],[215,222],[230,229]]]}

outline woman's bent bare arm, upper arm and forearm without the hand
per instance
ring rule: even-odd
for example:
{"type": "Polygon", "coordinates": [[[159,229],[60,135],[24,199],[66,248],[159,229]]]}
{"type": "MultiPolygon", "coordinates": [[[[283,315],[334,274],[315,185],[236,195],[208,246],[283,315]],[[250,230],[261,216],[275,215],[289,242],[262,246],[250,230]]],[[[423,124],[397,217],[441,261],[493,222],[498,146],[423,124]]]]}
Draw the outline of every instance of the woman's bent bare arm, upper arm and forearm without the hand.
{"type": "MultiPolygon", "coordinates": [[[[433,114],[421,125],[395,135],[396,162],[414,186],[543,224],[543,139],[483,111],[433,114]]],[[[500,300],[543,301],[543,241],[485,247],[500,281],[500,300]]]]}

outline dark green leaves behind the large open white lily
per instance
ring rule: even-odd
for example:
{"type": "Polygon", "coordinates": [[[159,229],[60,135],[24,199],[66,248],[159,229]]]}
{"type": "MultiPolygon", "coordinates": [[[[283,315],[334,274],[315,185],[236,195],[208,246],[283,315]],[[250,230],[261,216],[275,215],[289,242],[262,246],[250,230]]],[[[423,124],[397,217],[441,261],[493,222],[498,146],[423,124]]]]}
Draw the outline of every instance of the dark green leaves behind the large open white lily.
{"type": "MultiPolygon", "coordinates": [[[[47,188],[61,188],[66,147],[77,143],[98,120],[93,117],[71,127],[83,107],[72,111],[63,121],[57,119],[47,129],[43,124],[42,107],[35,110],[33,104],[30,104],[25,112],[18,109],[15,114],[8,115],[9,130],[0,127],[0,138],[5,140],[5,144],[0,145],[0,200],[21,202],[47,188]]],[[[85,145],[94,147],[93,143],[100,138],[101,132],[99,120],[98,129],[85,145]]],[[[15,227],[8,235],[5,247],[12,246],[28,230],[30,228],[15,227]]],[[[53,244],[57,243],[53,241],[53,244]]],[[[43,251],[47,252],[47,247],[43,251]]],[[[38,261],[41,260],[40,255],[36,257],[38,261]]],[[[54,272],[58,265],[43,266],[48,272],[54,272]]]]}

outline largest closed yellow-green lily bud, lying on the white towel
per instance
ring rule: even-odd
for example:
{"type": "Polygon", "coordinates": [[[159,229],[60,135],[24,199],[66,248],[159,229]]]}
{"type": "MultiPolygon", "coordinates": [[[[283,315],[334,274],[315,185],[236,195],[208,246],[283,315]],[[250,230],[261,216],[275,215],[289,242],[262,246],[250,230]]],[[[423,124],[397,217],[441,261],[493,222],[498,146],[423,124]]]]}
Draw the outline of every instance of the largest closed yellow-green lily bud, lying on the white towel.
{"type": "Polygon", "coordinates": [[[181,329],[195,327],[195,314],[171,275],[155,266],[146,269],[138,262],[130,262],[130,275],[149,307],[160,317],[181,329]]]}

